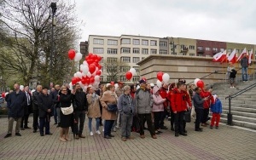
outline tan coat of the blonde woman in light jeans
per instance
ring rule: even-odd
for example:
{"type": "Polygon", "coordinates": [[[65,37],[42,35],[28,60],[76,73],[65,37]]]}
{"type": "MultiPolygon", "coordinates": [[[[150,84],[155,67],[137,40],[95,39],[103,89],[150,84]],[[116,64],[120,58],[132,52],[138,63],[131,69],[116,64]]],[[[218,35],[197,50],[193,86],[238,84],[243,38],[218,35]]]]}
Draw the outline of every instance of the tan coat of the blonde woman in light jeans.
{"type": "Polygon", "coordinates": [[[96,100],[92,101],[92,94],[87,94],[87,101],[88,101],[88,117],[96,118],[101,117],[101,109],[100,109],[100,97],[96,95],[96,100]]]}

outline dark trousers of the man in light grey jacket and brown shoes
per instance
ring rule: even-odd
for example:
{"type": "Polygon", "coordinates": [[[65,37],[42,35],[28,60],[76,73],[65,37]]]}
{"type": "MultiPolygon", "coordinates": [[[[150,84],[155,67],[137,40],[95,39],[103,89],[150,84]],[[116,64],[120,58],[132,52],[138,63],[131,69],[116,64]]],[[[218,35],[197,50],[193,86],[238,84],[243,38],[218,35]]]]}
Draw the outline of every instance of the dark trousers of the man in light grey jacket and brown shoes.
{"type": "Polygon", "coordinates": [[[145,113],[145,114],[138,114],[138,117],[140,118],[140,134],[144,134],[144,122],[146,120],[148,124],[148,130],[151,134],[151,136],[155,135],[154,132],[154,126],[152,123],[151,113],[145,113]]]}

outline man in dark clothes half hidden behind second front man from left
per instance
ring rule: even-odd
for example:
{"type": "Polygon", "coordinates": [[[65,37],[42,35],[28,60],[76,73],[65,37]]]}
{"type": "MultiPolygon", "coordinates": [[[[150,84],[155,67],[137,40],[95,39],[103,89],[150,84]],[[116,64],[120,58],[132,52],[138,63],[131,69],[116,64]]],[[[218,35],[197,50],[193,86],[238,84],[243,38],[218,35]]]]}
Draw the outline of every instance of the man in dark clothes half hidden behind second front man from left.
{"type": "Polygon", "coordinates": [[[42,94],[42,86],[38,85],[37,90],[32,93],[32,106],[33,106],[33,133],[38,130],[38,96],[42,94]]]}

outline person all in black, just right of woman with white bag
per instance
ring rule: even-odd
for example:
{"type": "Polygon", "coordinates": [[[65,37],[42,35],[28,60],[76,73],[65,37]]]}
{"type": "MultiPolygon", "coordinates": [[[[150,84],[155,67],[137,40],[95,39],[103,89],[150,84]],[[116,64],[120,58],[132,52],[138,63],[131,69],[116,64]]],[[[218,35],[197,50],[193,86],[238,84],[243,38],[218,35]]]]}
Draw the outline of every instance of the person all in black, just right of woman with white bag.
{"type": "Polygon", "coordinates": [[[73,90],[73,108],[74,108],[74,134],[76,134],[76,139],[85,138],[82,134],[84,129],[85,112],[88,111],[88,102],[86,99],[86,94],[77,83],[75,89],[73,90]]]}

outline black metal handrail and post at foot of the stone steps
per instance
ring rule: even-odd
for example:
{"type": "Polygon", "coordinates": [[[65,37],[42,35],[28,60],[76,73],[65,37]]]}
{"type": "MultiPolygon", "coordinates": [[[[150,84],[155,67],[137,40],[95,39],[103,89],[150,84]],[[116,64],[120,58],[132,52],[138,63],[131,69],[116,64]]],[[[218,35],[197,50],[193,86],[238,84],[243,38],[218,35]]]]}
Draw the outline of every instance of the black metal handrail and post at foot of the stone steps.
{"type": "Polygon", "coordinates": [[[243,94],[245,92],[247,92],[250,89],[253,89],[254,87],[256,87],[256,83],[253,83],[252,85],[248,86],[245,89],[240,90],[239,92],[236,92],[236,94],[230,94],[229,96],[225,97],[225,100],[229,99],[229,112],[228,112],[228,125],[233,125],[233,118],[232,118],[232,113],[231,113],[231,100],[235,97],[237,97],[240,94],[243,94]]]}

